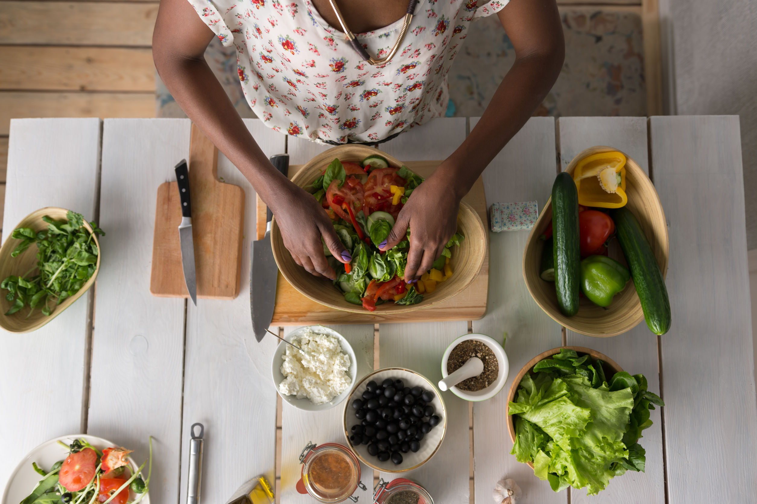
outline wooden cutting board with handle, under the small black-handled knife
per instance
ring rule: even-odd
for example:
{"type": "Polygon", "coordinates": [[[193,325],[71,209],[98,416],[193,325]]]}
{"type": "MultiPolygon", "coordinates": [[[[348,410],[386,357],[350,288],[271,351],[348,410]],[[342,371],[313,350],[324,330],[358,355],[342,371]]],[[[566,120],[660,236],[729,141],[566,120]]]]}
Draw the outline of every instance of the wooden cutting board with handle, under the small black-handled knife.
{"type": "MultiPolygon", "coordinates": [[[[189,191],[197,297],[234,299],[239,294],[240,285],[245,191],[238,185],[220,182],[217,168],[218,149],[192,124],[189,191]]],[[[157,188],[155,206],[150,275],[150,292],[154,296],[189,297],[179,246],[181,222],[179,188],[176,182],[165,182],[157,188]]]]}

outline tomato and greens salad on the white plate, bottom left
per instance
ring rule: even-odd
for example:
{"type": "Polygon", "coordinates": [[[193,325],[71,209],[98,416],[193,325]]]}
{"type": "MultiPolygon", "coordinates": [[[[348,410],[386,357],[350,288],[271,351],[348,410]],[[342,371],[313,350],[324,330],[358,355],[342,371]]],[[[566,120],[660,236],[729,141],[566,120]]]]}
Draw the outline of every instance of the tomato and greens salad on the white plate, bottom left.
{"type": "Polygon", "coordinates": [[[45,471],[32,462],[35,471],[42,475],[32,493],[21,504],[136,504],[147,495],[152,472],[152,438],[147,479],[142,478],[142,463],[132,472],[126,448],[98,450],[84,439],[70,445],[58,441],[68,450],[65,460],[55,462],[45,471]],[[129,501],[129,490],[136,496],[129,501]]]}

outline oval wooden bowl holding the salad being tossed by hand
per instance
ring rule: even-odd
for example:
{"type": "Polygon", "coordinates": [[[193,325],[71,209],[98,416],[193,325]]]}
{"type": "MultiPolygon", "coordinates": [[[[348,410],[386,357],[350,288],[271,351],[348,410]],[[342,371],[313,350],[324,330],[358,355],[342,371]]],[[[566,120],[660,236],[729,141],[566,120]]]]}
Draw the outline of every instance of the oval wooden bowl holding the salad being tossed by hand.
{"type": "MultiPolygon", "coordinates": [[[[379,151],[378,149],[371,148],[366,145],[340,145],[338,147],[329,149],[328,151],[322,152],[316,157],[313,157],[313,159],[311,159],[307,164],[302,166],[301,170],[299,170],[298,173],[296,173],[294,177],[292,177],[291,181],[299,185],[300,187],[305,188],[306,190],[313,191],[313,183],[318,181],[324,175],[324,170],[327,169],[327,167],[335,159],[340,160],[341,163],[350,163],[350,170],[354,170],[355,166],[362,166],[363,161],[369,160],[369,158],[371,157],[377,159],[380,162],[375,169],[382,169],[385,167],[399,169],[403,166],[403,163],[400,160],[397,160],[396,158],[391,157],[390,155],[386,154],[385,152],[379,151]]],[[[373,173],[374,168],[372,166],[366,166],[366,168],[368,169],[369,173],[373,173]]],[[[407,168],[405,168],[405,170],[407,170],[407,168]]],[[[363,179],[365,181],[366,188],[370,188],[369,173],[364,173],[364,177],[360,173],[354,173],[356,178],[357,176],[360,176],[360,179],[363,179]]],[[[350,175],[347,174],[347,179],[349,178],[349,176],[350,175]]],[[[405,190],[407,190],[407,188],[405,190]]],[[[369,194],[373,194],[372,190],[368,192],[369,194]]],[[[319,196],[320,198],[329,198],[329,194],[330,193],[317,194],[316,191],[316,196],[319,196]]],[[[391,201],[388,202],[391,204],[391,201]]],[[[326,200],[326,204],[328,204],[328,200],[326,200]]],[[[396,213],[397,208],[392,208],[396,213]]],[[[324,211],[327,210],[328,209],[325,209],[324,211]]],[[[356,220],[358,227],[361,228],[361,234],[363,235],[362,238],[356,238],[355,234],[357,233],[357,228],[355,228],[355,226],[350,226],[350,222],[347,222],[346,219],[338,218],[333,222],[335,222],[337,226],[341,226],[341,228],[347,228],[341,229],[341,231],[338,232],[338,235],[347,250],[350,250],[350,252],[353,253],[354,264],[355,259],[357,258],[357,254],[355,253],[357,240],[360,239],[363,241],[370,241],[372,237],[369,234],[367,226],[372,226],[372,224],[376,222],[375,220],[371,220],[373,217],[375,217],[379,213],[384,214],[386,212],[369,212],[368,216],[362,213],[363,216],[361,218],[360,212],[357,211],[357,207],[352,210],[354,210],[353,213],[355,215],[347,216],[347,219],[350,219],[350,221],[352,219],[356,220]],[[338,222],[341,222],[341,225],[338,224],[338,222]],[[351,236],[347,237],[347,234],[350,234],[351,236]]],[[[344,208],[344,211],[342,213],[344,213],[346,216],[347,211],[349,210],[347,210],[347,208],[344,208]]],[[[334,219],[334,217],[335,216],[333,216],[332,214],[332,219],[334,219]]],[[[394,225],[394,219],[391,219],[390,224],[392,226],[394,225]]],[[[374,308],[374,310],[366,309],[365,304],[361,305],[361,300],[363,299],[363,297],[367,297],[367,295],[364,294],[368,293],[368,291],[363,290],[362,285],[357,288],[357,294],[352,297],[352,302],[350,302],[345,296],[345,294],[347,294],[349,285],[345,285],[347,289],[343,289],[340,286],[342,285],[341,282],[337,282],[338,285],[336,285],[328,279],[316,278],[315,276],[307,272],[302,266],[299,266],[297,263],[295,263],[294,259],[291,257],[291,254],[284,246],[281,230],[276,224],[276,216],[273,217],[273,221],[271,222],[271,247],[273,249],[273,257],[276,259],[276,264],[279,266],[279,271],[281,271],[284,278],[286,278],[286,280],[304,296],[309,297],[313,301],[316,301],[316,303],[330,306],[332,308],[335,308],[336,310],[352,313],[368,313],[368,311],[372,311],[372,313],[381,313],[382,315],[387,315],[391,313],[407,313],[413,310],[422,310],[423,308],[434,306],[435,304],[441,303],[445,300],[448,300],[450,297],[459,294],[459,292],[463,291],[466,287],[468,287],[468,285],[471,284],[471,282],[473,282],[476,276],[478,276],[478,272],[481,270],[481,266],[483,266],[484,263],[484,257],[486,255],[486,250],[488,247],[488,235],[486,233],[486,230],[484,229],[484,223],[481,222],[481,218],[478,216],[478,213],[476,213],[475,210],[473,210],[473,208],[465,202],[460,203],[459,213],[457,216],[457,232],[460,235],[463,235],[464,238],[459,240],[459,244],[453,244],[448,248],[450,257],[441,258],[441,261],[443,261],[443,263],[440,263],[440,269],[438,269],[436,272],[434,272],[433,269],[431,270],[431,273],[435,275],[436,279],[432,279],[430,276],[428,276],[428,273],[426,273],[425,278],[419,280],[415,287],[411,288],[410,286],[408,286],[409,289],[411,288],[413,290],[413,295],[416,296],[416,300],[420,299],[418,297],[419,295],[422,296],[422,300],[419,300],[419,302],[417,303],[407,304],[392,302],[392,299],[378,300],[375,306],[371,306],[374,308]],[[421,286],[419,284],[423,284],[424,286],[421,286]],[[429,289],[428,287],[431,288],[429,289]]],[[[370,244],[368,244],[367,247],[369,247],[367,254],[372,254],[371,250],[373,250],[374,247],[372,247],[372,245],[370,244]]],[[[386,257],[386,254],[384,254],[384,257],[386,257]]],[[[369,257],[369,259],[370,258],[371,257],[369,257]]],[[[335,262],[333,258],[329,259],[330,263],[332,263],[332,267],[335,267],[335,269],[337,269],[338,277],[340,276],[340,274],[352,274],[351,271],[345,272],[343,266],[341,266],[341,263],[335,262]],[[339,268],[341,268],[341,273],[339,268]]],[[[352,267],[353,266],[350,266],[350,269],[352,267]]],[[[397,267],[397,269],[399,268],[397,267]]],[[[375,268],[373,269],[373,272],[375,272],[375,268]]],[[[397,276],[395,278],[399,278],[399,276],[399,273],[397,273],[397,276]]],[[[366,283],[368,284],[372,279],[368,273],[366,273],[364,278],[366,279],[366,283]]],[[[397,279],[395,279],[394,282],[397,282],[397,279]]],[[[388,283],[389,282],[385,282],[385,284],[388,283]]],[[[402,290],[404,288],[404,285],[397,285],[397,288],[402,290]]],[[[405,292],[398,292],[394,295],[401,300],[403,299],[401,298],[403,294],[405,294],[405,292]]],[[[405,295],[407,297],[410,294],[405,295]]]]}

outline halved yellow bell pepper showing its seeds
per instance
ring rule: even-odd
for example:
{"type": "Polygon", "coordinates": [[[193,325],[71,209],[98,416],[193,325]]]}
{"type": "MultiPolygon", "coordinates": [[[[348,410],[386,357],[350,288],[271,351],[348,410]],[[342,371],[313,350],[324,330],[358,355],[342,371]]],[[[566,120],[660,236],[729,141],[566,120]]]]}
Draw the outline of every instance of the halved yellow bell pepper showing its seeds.
{"type": "Polygon", "coordinates": [[[578,204],[584,207],[620,208],[628,203],[625,156],[621,152],[600,152],[584,157],[575,166],[573,182],[578,189],[578,204]]]}

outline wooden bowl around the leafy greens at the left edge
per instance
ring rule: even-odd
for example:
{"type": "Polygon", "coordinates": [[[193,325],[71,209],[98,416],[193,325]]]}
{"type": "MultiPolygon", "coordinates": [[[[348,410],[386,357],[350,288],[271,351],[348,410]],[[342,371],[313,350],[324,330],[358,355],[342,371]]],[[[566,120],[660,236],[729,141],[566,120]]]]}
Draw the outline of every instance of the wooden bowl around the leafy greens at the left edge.
{"type": "MultiPolygon", "coordinates": [[[[65,220],[67,213],[68,210],[66,210],[65,208],[40,208],[39,210],[35,210],[21,219],[21,222],[19,222],[13,229],[31,228],[36,232],[43,231],[47,229],[47,222],[43,221],[42,217],[49,216],[51,217],[51,219],[65,220]]],[[[84,221],[84,227],[87,231],[89,231],[90,234],[92,234],[92,227],[89,226],[89,222],[86,222],[86,220],[84,221]]],[[[13,229],[8,229],[8,235],[13,232],[13,229]]],[[[100,242],[97,239],[97,235],[93,235],[92,239],[95,241],[95,244],[97,244],[98,252],[100,252],[100,242]]],[[[11,253],[19,243],[20,240],[8,236],[8,239],[6,239],[5,243],[2,244],[2,247],[0,247],[0,282],[2,282],[2,280],[7,278],[9,275],[25,275],[27,272],[30,272],[30,270],[36,269],[36,244],[31,245],[17,257],[11,257],[11,253]]],[[[86,284],[84,284],[82,288],[79,289],[79,292],[73,294],[73,296],[71,297],[67,297],[63,301],[63,303],[55,305],[55,310],[53,310],[53,312],[49,316],[42,314],[42,310],[40,310],[39,306],[37,306],[37,308],[30,316],[26,316],[26,314],[29,313],[29,306],[24,307],[23,309],[17,311],[12,315],[5,315],[5,312],[7,312],[12,305],[10,301],[5,299],[5,294],[8,294],[8,291],[5,291],[5,289],[0,289],[0,294],[2,294],[0,295],[0,327],[4,328],[8,332],[31,332],[36,331],[37,329],[41,328],[42,325],[47,324],[52,319],[55,319],[55,317],[63,313],[63,311],[71,306],[77,299],[79,299],[79,297],[82,297],[87,289],[92,287],[92,285],[95,283],[95,278],[97,278],[97,274],[100,271],[101,257],[102,254],[98,254],[97,263],[95,264],[95,272],[92,274],[92,278],[89,278],[86,284]]]]}

